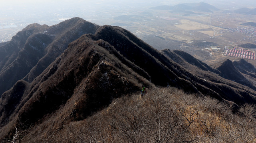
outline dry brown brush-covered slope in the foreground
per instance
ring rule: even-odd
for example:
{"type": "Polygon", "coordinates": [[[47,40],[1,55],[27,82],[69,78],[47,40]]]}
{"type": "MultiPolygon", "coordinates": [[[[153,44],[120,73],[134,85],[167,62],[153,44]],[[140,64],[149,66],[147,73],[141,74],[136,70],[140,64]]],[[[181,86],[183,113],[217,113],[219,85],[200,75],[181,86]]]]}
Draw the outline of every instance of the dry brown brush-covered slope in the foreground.
{"type": "MultiPolygon", "coordinates": [[[[236,114],[210,97],[187,95],[176,88],[151,89],[114,100],[93,116],[71,122],[47,143],[253,143],[256,141],[255,106],[236,114]]],[[[32,138],[31,138],[32,139],[32,138]]],[[[26,138],[26,141],[31,141],[26,138]]]]}

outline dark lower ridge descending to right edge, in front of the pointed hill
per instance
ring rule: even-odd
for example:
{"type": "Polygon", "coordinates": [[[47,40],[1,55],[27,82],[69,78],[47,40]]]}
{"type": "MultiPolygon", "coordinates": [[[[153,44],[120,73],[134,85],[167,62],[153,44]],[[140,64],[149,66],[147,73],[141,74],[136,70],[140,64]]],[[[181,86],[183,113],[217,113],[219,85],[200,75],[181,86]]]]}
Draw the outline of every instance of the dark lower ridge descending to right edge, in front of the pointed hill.
{"type": "Polygon", "coordinates": [[[226,72],[228,69],[223,69],[222,72],[212,69],[205,63],[198,62],[194,57],[182,51],[163,50],[163,52],[169,58],[178,61],[172,64],[179,64],[182,67],[179,68],[179,72],[185,75],[183,78],[193,83],[198,92],[204,95],[211,95],[217,99],[232,101],[236,104],[255,102],[251,102],[251,100],[255,100],[254,90],[248,89],[248,87],[235,81],[220,77],[222,72],[226,72]]]}

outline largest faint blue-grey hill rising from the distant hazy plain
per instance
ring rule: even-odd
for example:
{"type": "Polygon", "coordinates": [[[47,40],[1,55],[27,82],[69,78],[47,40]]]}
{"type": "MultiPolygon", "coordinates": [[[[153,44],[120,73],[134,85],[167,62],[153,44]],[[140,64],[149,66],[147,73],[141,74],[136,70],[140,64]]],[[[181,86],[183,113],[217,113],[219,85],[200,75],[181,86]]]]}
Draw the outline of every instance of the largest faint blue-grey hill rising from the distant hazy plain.
{"type": "Polygon", "coordinates": [[[156,6],[151,9],[154,10],[170,10],[172,12],[192,12],[192,11],[199,11],[199,12],[213,12],[213,11],[218,11],[219,9],[204,3],[184,3],[184,4],[178,4],[175,6],[156,6]]]}

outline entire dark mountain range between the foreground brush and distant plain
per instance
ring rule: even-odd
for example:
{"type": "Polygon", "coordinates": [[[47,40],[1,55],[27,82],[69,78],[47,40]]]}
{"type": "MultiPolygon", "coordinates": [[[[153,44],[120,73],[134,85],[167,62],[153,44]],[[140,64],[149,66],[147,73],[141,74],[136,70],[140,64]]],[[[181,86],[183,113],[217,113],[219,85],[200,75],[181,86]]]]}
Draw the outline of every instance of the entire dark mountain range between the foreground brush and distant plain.
{"type": "Polygon", "coordinates": [[[141,85],[210,96],[235,111],[256,103],[255,77],[246,60],[210,67],[183,51],[158,51],[117,26],[78,17],[50,27],[32,24],[0,44],[0,142],[30,125],[24,142],[54,137],[141,85]]]}

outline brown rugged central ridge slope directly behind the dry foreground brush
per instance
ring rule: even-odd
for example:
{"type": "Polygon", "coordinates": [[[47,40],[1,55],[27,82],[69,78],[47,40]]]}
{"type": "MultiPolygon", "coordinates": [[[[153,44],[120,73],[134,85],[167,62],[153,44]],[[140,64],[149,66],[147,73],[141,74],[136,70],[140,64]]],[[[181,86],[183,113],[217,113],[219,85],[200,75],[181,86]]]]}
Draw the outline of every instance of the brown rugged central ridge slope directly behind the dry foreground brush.
{"type": "MultiPolygon", "coordinates": [[[[22,128],[23,124],[48,120],[44,116],[52,112],[60,112],[61,120],[53,119],[54,126],[60,128],[64,120],[82,120],[110,104],[113,98],[139,91],[139,85],[153,86],[106,50],[112,48],[105,41],[92,41],[83,36],[69,44],[69,48],[31,84],[18,81],[0,100],[1,138],[15,126],[22,128]],[[23,88],[18,91],[20,86],[23,88]],[[17,97],[15,102],[12,97],[17,97]]],[[[127,60],[123,58],[123,61],[127,60]]],[[[139,67],[134,65],[133,68],[139,67]]]]}

